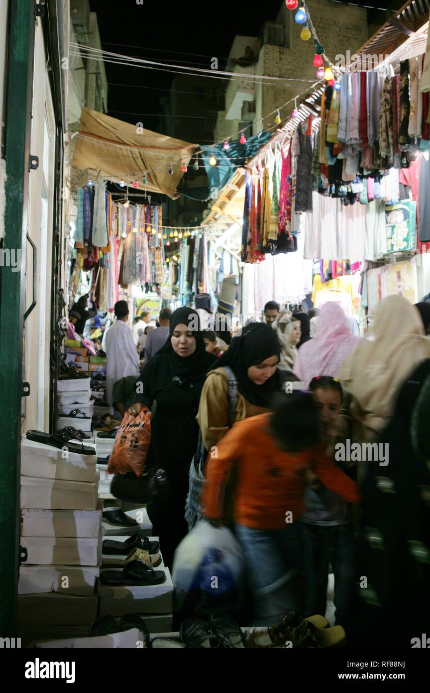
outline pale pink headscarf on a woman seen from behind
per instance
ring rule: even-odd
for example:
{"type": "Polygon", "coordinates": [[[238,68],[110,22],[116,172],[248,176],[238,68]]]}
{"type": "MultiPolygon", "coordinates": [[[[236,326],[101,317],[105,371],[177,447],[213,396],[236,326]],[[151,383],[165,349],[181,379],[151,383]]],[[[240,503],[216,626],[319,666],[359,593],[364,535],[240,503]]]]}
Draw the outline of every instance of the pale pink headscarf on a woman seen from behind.
{"type": "Polygon", "coordinates": [[[335,378],[358,342],[359,337],[351,334],[348,318],[342,308],[334,302],[326,303],[318,316],[315,337],[299,350],[294,372],[304,387],[309,387],[312,378],[317,376],[335,378]]]}

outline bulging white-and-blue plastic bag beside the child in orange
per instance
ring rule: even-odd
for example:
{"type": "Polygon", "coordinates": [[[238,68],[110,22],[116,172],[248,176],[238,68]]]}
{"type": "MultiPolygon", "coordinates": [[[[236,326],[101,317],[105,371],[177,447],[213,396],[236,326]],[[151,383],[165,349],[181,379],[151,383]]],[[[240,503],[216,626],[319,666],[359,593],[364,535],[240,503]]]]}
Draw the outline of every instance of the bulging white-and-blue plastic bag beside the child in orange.
{"type": "Polygon", "coordinates": [[[230,529],[200,520],[175,552],[175,608],[200,616],[236,611],[243,593],[242,571],[242,550],[230,529]]]}

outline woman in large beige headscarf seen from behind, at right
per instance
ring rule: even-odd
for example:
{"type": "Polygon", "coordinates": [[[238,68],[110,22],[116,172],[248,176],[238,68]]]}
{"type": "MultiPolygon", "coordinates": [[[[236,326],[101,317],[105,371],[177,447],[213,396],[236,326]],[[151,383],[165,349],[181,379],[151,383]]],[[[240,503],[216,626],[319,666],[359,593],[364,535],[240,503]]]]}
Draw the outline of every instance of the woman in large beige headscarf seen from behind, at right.
{"type": "Polygon", "coordinates": [[[430,339],[418,310],[398,295],[381,301],[369,338],[359,342],[339,372],[351,396],[355,441],[373,441],[389,424],[400,387],[426,358],[430,339]]]}

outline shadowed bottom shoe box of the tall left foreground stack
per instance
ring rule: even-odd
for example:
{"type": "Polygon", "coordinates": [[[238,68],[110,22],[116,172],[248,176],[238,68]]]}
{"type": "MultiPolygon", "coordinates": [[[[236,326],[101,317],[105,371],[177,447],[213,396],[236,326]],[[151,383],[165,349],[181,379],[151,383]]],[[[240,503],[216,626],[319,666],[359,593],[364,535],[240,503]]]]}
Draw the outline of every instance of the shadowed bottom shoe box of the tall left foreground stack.
{"type": "MultiPolygon", "coordinates": [[[[97,618],[97,604],[96,596],[77,597],[59,595],[56,592],[46,595],[18,595],[18,631],[21,631],[21,626],[88,628],[97,618]]],[[[88,633],[88,630],[86,632],[88,633]]]]}

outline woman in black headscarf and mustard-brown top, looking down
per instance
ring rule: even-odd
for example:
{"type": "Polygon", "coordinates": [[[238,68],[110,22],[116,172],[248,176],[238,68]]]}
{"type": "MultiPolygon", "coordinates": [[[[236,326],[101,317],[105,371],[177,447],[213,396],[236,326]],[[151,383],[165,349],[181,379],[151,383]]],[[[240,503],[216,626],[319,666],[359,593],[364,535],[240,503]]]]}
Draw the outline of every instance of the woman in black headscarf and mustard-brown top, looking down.
{"type": "Polygon", "coordinates": [[[197,420],[207,450],[219,440],[236,421],[263,414],[272,408],[274,394],[283,385],[278,368],[281,345],[277,333],[268,325],[252,322],[234,337],[227,351],[216,360],[203,385],[197,420]],[[237,401],[233,416],[229,416],[229,367],[237,382],[237,401]]]}

